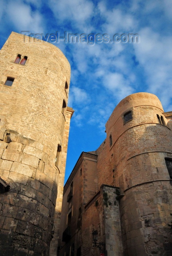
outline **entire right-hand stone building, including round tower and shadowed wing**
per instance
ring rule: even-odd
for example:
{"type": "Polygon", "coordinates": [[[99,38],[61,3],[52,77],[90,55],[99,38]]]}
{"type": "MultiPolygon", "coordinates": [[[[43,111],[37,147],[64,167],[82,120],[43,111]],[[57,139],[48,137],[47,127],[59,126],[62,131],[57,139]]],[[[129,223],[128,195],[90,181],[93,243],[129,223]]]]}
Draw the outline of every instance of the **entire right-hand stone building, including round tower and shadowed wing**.
{"type": "Polygon", "coordinates": [[[105,127],[64,186],[59,256],[172,255],[172,112],[136,93],[105,127]]]}

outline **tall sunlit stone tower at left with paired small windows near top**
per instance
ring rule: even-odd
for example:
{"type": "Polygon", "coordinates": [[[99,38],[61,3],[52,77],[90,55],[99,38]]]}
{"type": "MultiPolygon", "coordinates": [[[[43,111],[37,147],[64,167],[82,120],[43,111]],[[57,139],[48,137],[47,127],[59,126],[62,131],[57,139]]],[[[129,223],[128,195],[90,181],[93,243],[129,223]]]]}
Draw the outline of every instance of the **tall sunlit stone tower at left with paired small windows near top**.
{"type": "Polygon", "coordinates": [[[52,44],[12,32],[0,50],[1,255],[57,254],[69,80],[52,44]]]}

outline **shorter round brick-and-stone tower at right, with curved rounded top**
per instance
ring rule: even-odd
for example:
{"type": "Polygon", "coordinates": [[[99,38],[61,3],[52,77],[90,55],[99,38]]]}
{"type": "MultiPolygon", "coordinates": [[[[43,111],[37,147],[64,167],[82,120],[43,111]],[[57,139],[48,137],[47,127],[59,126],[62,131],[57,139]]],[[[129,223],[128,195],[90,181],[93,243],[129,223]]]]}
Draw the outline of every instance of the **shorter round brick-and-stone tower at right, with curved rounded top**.
{"type": "Polygon", "coordinates": [[[136,93],[106,124],[114,185],[123,196],[124,255],[171,255],[172,132],[163,112],[155,95],[136,93]]]}

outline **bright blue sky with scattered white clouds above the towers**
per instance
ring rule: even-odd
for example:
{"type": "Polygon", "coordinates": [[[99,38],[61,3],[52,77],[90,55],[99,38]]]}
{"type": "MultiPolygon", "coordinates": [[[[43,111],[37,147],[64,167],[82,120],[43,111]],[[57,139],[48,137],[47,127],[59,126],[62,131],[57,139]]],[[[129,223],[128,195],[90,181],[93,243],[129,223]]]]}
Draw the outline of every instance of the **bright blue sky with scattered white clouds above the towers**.
{"type": "Polygon", "coordinates": [[[172,110],[171,0],[1,0],[0,24],[0,47],[11,31],[59,32],[59,42],[48,40],[71,64],[68,106],[75,109],[65,181],[81,152],[103,142],[105,123],[127,95],[153,93],[172,110]],[[67,34],[80,42],[63,40],[67,34]]]}

